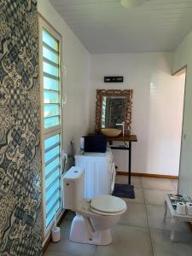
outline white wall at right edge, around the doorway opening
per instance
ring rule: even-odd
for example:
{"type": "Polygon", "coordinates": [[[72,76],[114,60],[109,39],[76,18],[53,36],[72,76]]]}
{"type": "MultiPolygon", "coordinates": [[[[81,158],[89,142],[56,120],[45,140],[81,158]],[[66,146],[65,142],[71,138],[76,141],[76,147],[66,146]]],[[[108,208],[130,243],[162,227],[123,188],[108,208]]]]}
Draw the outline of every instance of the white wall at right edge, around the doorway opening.
{"type": "Polygon", "coordinates": [[[184,65],[187,65],[187,75],[178,188],[179,193],[187,194],[192,198],[192,32],[184,38],[175,51],[173,72],[184,65]]]}

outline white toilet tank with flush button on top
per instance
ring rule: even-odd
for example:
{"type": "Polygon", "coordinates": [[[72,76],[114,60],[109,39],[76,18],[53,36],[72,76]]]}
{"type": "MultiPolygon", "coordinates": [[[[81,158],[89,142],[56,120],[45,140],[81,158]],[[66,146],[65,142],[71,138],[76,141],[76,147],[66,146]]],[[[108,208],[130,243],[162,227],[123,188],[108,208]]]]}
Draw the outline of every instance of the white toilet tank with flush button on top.
{"type": "Polygon", "coordinates": [[[71,167],[62,177],[63,208],[74,212],[81,206],[84,197],[84,169],[71,167]]]}

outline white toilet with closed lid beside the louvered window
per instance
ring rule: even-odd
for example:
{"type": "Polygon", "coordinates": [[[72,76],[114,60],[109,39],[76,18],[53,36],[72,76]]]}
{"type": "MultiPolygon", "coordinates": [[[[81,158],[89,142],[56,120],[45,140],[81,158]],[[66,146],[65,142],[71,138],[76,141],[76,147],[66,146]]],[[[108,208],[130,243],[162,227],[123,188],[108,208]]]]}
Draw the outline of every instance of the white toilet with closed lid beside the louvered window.
{"type": "Polygon", "coordinates": [[[63,177],[63,207],[76,212],[71,226],[71,241],[108,245],[111,228],[126,211],[125,201],[112,195],[84,198],[84,169],[73,166],[63,177]]]}

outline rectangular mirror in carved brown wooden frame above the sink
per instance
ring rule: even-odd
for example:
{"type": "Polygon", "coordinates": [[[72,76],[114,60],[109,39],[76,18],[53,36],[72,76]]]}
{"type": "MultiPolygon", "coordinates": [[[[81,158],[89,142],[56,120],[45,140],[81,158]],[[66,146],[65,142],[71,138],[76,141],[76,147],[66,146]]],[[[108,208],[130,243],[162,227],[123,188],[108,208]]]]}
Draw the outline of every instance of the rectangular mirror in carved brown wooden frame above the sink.
{"type": "Polygon", "coordinates": [[[132,90],[96,90],[96,131],[121,128],[131,133],[132,90]]]}

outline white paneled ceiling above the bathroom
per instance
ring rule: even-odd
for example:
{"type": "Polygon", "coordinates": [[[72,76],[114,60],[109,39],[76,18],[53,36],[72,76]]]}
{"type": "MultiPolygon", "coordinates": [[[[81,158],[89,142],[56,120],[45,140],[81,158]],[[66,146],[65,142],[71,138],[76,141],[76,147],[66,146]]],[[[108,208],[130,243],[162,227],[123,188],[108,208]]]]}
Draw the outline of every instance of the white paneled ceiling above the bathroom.
{"type": "Polygon", "coordinates": [[[49,0],[91,54],[173,50],[192,30],[192,0],[49,0]]]}

